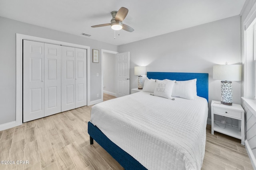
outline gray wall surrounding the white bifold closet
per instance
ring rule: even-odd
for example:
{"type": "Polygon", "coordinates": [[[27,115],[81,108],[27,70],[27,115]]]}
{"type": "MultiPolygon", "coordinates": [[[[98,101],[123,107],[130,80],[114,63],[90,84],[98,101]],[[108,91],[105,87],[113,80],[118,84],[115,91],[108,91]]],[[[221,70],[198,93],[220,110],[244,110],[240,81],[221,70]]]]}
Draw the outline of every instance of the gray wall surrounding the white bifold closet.
{"type": "Polygon", "coordinates": [[[116,45],[0,17],[0,125],[16,120],[16,33],[91,47],[90,98],[101,98],[101,58],[92,63],[92,49],[117,51],[116,45]]]}

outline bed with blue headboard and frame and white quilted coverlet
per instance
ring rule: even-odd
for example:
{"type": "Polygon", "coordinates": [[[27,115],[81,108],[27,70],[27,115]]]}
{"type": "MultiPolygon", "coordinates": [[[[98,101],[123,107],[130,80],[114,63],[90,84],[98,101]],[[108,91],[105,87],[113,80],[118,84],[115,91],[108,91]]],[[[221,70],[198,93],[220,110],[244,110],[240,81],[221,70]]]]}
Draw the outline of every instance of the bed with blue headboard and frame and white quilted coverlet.
{"type": "Polygon", "coordinates": [[[147,77],[196,78],[199,97],[168,100],[138,92],[97,104],[88,122],[90,143],[95,140],[126,170],[200,169],[206,140],[208,74],[147,72],[147,77]]]}

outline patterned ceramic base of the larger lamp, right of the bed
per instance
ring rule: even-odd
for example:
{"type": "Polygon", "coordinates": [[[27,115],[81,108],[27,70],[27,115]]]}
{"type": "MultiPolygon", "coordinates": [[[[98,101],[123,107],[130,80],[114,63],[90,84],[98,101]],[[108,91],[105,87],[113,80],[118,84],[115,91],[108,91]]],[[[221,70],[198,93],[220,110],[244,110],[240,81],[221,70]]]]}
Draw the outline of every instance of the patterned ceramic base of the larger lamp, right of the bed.
{"type": "Polygon", "coordinates": [[[221,81],[221,104],[232,106],[232,82],[221,81]]]}

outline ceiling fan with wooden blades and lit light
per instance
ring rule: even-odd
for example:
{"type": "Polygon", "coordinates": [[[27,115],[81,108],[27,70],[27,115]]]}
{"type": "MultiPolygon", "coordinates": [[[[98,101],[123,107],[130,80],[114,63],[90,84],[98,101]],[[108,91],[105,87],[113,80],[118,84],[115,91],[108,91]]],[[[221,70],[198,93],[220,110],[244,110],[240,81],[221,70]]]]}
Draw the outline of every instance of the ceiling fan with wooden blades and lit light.
{"type": "Polygon", "coordinates": [[[95,28],[95,27],[104,27],[104,26],[111,25],[111,28],[114,30],[124,29],[125,31],[132,32],[132,31],[134,31],[134,29],[122,22],[124,20],[124,18],[127,16],[127,14],[128,14],[128,9],[121,7],[118,11],[111,12],[112,19],[111,19],[110,23],[93,25],[91,27],[95,28]]]}

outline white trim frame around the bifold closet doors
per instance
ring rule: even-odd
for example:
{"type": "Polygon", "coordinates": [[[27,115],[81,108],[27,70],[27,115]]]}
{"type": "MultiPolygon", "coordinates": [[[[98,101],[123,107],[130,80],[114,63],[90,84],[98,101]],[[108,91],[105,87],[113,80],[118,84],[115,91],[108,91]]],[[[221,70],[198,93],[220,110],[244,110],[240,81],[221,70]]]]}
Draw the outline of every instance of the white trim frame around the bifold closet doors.
{"type": "Polygon", "coordinates": [[[38,41],[42,43],[50,43],[55,45],[65,45],[69,47],[87,49],[87,105],[90,105],[90,47],[85,45],[67,43],[52,39],[45,39],[41,37],[34,37],[30,35],[16,33],[16,121],[12,124],[9,124],[8,128],[22,125],[23,39],[30,41],[38,41]]]}

